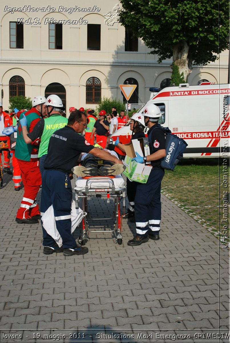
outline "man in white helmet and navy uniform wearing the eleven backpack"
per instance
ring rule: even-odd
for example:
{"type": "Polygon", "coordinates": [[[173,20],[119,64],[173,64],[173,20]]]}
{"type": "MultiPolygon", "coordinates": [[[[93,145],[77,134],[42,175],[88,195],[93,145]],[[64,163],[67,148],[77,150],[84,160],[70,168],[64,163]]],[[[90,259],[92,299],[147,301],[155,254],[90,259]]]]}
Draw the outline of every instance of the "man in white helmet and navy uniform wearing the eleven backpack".
{"type": "Polygon", "coordinates": [[[154,128],[161,117],[161,110],[154,104],[144,107],[145,126],[149,128],[148,137],[151,135],[150,155],[132,158],[138,163],[151,162],[152,170],[146,184],[139,183],[135,197],[136,236],[128,241],[128,245],[136,246],[150,239],[158,240],[161,222],[161,181],[164,169],[161,159],[165,157],[165,134],[161,129],[154,128]]]}

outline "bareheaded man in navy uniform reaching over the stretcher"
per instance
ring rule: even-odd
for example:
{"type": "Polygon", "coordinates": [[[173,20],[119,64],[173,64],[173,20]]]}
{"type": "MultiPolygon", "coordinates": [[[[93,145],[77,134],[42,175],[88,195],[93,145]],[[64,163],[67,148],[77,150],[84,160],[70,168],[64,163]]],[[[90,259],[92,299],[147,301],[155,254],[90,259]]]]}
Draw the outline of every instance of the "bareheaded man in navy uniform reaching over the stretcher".
{"type": "Polygon", "coordinates": [[[77,165],[82,152],[86,152],[112,161],[115,164],[123,164],[118,158],[110,153],[95,148],[78,133],[82,133],[87,127],[87,115],[81,111],[73,111],[68,118],[68,124],[55,131],[49,141],[48,154],[44,162],[41,191],[41,214],[44,214],[52,205],[57,231],[62,238],[62,247],[43,230],[43,253],[50,255],[53,252],[63,252],[64,256],[83,255],[88,248],[81,247],[71,235],[71,169],[77,165]]]}

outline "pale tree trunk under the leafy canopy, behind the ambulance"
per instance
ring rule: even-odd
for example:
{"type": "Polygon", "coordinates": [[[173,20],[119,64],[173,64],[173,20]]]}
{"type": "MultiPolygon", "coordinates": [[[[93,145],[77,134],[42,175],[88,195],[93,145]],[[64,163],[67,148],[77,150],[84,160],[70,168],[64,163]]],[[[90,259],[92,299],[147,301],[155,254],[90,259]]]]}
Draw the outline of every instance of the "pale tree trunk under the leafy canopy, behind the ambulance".
{"type": "Polygon", "coordinates": [[[184,74],[184,80],[187,81],[192,67],[188,64],[189,46],[187,42],[181,42],[173,47],[173,61],[179,68],[179,73],[184,74]]]}

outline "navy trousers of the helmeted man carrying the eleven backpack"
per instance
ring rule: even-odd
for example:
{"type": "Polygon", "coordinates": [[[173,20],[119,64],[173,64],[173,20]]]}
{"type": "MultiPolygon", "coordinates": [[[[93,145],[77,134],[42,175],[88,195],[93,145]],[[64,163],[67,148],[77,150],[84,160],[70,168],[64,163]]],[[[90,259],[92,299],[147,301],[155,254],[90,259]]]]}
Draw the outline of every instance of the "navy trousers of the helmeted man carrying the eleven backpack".
{"type": "Polygon", "coordinates": [[[146,184],[137,185],[135,197],[135,221],[137,235],[147,235],[148,230],[156,234],[161,222],[161,181],[165,171],[151,170],[146,184]]]}

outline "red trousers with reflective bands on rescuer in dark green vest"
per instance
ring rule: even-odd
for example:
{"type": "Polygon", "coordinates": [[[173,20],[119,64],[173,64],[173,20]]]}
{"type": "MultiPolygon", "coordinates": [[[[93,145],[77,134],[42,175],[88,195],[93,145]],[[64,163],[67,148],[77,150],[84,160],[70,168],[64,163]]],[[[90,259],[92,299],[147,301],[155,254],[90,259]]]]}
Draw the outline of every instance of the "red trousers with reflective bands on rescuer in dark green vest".
{"type": "Polygon", "coordinates": [[[40,214],[36,196],[41,186],[41,173],[39,169],[39,161],[22,161],[17,159],[18,165],[22,173],[22,181],[24,185],[24,195],[20,208],[17,211],[18,219],[26,219],[29,216],[40,214]]]}

